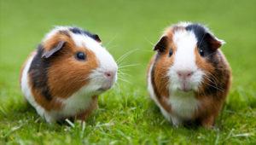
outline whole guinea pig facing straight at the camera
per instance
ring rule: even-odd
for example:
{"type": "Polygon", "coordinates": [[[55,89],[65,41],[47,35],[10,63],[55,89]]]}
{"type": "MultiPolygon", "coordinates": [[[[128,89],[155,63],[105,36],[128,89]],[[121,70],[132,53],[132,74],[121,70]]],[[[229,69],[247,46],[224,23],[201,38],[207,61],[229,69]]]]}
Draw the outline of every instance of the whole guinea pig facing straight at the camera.
{"type": "Polygon", "coordinates": [[[172,125],[212,128],[231,84],[223,40],[206,26],[180,22],[166,28],[148,65],[148,93],[172,125]]]}

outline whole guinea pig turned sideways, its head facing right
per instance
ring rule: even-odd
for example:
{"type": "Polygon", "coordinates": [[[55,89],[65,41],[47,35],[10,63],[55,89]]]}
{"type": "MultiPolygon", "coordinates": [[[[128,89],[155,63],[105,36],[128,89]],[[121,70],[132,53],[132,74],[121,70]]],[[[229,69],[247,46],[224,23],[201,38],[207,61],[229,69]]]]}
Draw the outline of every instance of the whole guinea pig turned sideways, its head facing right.
{"type": "Polygon", "coordinates": [[[98,35],[56,26],[21,68],[20,87],[47,122],[85,120],[116,82],[117,69],[98,35]]]}

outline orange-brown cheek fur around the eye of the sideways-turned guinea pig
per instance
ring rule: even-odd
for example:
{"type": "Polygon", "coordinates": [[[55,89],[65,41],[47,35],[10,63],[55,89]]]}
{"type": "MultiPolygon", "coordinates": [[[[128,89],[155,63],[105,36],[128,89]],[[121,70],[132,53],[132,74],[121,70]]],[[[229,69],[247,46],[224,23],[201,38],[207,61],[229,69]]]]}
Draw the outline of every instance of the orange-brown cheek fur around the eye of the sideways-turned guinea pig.
{"type": "Polygon", "coordinates": [[[61,52],[61,56],[54,58],[49,67],[49,90],[52,96],[67,98],[89,83],[89,75],[98,67],[98,62],[96,55],[88,49],[75,48],[61,52]],[[86,61],[75,59],[78,51],[87,55],[86,61]]]}

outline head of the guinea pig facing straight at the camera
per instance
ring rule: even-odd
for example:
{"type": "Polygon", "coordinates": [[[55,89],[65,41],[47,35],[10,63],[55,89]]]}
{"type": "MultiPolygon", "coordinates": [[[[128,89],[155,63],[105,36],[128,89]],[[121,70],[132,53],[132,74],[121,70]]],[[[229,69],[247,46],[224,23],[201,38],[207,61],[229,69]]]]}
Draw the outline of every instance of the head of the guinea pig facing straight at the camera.
{"type": "Polygon", "coordinates": [[[169,90],[199,90],[207,83],[205,76],[214,72],[222,44],[224,41],[199,24],[180,23],[167,28],[154,47],[158,51],[155,69],[160,70],[159,80],[168,84],[169,90]]]}

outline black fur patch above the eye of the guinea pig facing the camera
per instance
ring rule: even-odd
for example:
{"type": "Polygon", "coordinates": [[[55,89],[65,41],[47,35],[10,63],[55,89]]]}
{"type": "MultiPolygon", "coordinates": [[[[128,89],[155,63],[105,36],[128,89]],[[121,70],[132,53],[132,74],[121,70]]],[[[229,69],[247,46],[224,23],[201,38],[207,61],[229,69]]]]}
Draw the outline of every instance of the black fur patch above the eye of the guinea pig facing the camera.
{"type": "Polygon", "coordinates": [[[206,35],[208,35],[208,32],[204,26],[201,26],[200,24],[191,24],[189,26],[186,26],[186,30],[195,33],[195,37],[197,39],[197,48],[203,50],[204,57],[212,55],[212,53],[215,52],[215,50],[211,48],[211,45],[206,39],[206,35]]]}

